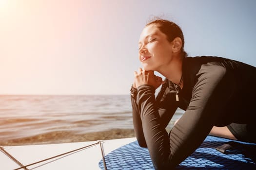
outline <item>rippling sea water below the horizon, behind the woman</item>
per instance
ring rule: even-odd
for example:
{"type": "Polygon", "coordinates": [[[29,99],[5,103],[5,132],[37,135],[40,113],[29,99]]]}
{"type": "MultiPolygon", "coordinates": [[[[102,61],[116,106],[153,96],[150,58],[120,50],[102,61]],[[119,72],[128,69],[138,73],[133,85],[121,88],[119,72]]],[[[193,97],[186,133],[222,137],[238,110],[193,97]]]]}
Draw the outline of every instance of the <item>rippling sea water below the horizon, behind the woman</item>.
{"type": "MultiPolygon", "coordinates": [[[[182,114],[177,110],[170,128],[182,114]]],[[[0,141],[112,129],[133,129],[129,95],[0,96],[0,141]]]]}

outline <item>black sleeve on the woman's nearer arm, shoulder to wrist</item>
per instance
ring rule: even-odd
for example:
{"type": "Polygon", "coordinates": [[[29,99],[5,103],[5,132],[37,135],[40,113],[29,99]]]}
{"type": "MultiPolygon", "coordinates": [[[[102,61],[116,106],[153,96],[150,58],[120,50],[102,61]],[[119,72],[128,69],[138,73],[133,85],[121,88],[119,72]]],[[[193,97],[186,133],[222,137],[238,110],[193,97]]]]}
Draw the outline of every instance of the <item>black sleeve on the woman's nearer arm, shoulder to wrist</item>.
{"type": "Polygon", "coordinates": [[[145,141],[157,170],[175,168],[193,153],[211,131],[223,105],[232,94],[232,80],[221,67],[202,68],[183,116],[168,135],[155,103],[151,86],[139,86],[137,104],[145,141]]]}

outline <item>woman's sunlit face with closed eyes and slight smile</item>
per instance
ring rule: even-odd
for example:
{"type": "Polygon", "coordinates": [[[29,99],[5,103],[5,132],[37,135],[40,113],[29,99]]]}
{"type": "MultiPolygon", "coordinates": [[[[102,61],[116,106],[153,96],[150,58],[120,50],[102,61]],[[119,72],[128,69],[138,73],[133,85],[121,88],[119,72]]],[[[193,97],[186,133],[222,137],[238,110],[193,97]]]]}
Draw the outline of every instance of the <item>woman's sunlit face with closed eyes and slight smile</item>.
{"type": "Polygon", "coordinates": [[[138,42],[139,61],[145,70],[159,71],[172,60],[172,46],[156,26],[151,24],[145,27],[140,34],[138,42]]]}

